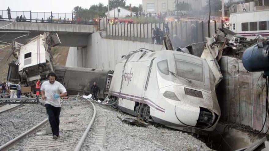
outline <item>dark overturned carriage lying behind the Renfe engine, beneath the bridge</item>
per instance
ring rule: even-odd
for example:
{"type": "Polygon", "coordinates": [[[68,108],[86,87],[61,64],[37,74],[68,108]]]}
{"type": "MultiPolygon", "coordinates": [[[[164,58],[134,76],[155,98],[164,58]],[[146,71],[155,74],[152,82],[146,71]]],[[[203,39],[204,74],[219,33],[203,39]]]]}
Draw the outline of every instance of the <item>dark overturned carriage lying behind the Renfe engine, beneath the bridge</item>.
{"type": "Polygon", "coordinates": [[[112,70],[80,67],[54,66],[54,71],[58,75],[57,81],[64,85],[68,95],[90,94],[90,88],[96,82],[100,88],[100,94],[97,96],[102,99],[108,95],[113,76],[112,70]]]}

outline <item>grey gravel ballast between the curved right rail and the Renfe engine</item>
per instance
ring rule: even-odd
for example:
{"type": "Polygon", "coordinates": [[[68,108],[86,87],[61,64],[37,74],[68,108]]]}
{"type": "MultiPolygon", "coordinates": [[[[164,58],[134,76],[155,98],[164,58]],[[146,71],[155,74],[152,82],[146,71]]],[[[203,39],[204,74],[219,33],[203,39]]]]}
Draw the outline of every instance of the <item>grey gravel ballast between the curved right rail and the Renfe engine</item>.
{"type": "MultiPolygon", "coordinates": [[[[100,121],[105,119],[104,150],[212,150],[205,143],[193,136],[166,127],[156,128],[149,125],[146,128],[131,126],[119,118],[135,118],[109,106],[96,105],[97,115],[92,130],[88,134],[81,150],[100,150],[94,138],[100,121]]],[[[98,132],[100,134],[100,132],[98,132]]]]}

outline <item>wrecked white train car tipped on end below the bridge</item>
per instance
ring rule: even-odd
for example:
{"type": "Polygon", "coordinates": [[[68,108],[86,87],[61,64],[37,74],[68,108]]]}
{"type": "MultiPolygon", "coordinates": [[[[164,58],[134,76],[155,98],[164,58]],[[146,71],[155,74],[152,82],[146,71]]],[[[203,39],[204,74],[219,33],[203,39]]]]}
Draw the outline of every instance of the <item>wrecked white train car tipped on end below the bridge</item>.
{"type": "Polygon", "coordinates": [[[7,80],[20,81],[22,86],[31,87],[35,86],[37,79],[46,80],[46,75],[53,71],[50,48],[58,44],[61,41],[56,33],[45,32],[20,48],[14,48],[13,53],[16,53],[17,59],[9,63],[7,80]]]}

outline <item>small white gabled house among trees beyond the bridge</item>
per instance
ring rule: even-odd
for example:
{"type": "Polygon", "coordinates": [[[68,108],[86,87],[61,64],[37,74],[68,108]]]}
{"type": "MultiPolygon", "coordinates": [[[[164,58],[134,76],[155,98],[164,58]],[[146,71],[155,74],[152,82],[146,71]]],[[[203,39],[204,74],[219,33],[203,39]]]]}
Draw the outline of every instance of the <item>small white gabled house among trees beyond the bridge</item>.
{"type": "Polygon", "coordinates": [[[107,15],[108,18],[124,18],[128,15],[130,16],[131,11],[124,9],[122,7],[117,7],[117,8],[111,9],[109,12],[106,12],[105,15],[107,15]]]}

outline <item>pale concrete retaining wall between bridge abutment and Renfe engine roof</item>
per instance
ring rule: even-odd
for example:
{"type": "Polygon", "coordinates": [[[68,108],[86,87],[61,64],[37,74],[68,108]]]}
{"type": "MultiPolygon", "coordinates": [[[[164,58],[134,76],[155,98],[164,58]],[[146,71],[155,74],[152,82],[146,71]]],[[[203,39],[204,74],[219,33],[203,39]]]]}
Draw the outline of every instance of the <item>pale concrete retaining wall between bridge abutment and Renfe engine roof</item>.
{"type": "Polygon", "coordinates": [[[163,45],[154,45],[145,42],[113,40],[101,38],[101,32],[95,32],[88,37],[87,67],[114,70],[121,56],[139,48],[160,51],[163,45]]]}

